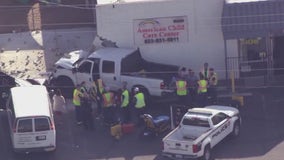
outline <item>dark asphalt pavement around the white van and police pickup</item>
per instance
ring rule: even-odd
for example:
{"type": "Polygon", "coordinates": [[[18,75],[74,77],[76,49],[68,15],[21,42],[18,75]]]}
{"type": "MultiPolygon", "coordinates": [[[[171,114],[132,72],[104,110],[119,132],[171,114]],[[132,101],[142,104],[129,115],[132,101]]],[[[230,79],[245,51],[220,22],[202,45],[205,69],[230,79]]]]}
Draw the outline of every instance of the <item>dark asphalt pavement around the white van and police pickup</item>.
{"type": "MultiPolygon", "coordinates": [[[[215,160],[282,160],[284,153],[284,98],[282,87],[252,88],[245,92],[245,105],[240,107],[241,135],[226,138],[213,149],[215,160]]],[[[159,102],[149,108],[154,116],[168,115],[170,102],[159,102]]],[[[15,155],[11,150],[5,113],[0,112],[0,154],[7,160],[163,160],[161,139],[141,139],[141,128],[115,140],[110,128],[96,119],[96,130],[87,131],[75,123],[73,105],[68,100],[68,114],[57,125],[57,150],[49,153],[15,155]]]]}

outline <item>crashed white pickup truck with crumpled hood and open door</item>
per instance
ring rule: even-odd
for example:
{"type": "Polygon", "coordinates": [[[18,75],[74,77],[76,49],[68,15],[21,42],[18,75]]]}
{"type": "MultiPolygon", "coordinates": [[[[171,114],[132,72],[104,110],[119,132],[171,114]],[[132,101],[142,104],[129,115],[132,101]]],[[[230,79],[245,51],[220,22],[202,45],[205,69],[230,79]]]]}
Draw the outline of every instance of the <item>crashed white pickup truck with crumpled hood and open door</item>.
{"type": "Polygon", "coordinates": [[[101,48],[88,54],[84,51],[70,52],[55,63],[49,85],[60,87],[65,96],[71,97],[76,84],[87,85],[97,78],[111,90],[117,91],[122,82],[132,90],[139,87],[145,97],[164,97],[174,93],[169,87],[178,66],[158,64],[144,60],[139,49],[101,48]],[[66,95],[69,94],[69,95],[66,95]]]}

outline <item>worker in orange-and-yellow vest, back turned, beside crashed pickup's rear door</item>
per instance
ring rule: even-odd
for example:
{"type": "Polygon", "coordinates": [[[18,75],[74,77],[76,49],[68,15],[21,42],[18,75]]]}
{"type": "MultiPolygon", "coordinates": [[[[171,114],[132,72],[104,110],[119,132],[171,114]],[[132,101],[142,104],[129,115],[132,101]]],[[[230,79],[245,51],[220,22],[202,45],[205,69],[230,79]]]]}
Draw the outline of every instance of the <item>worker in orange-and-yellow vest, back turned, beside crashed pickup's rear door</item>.
{"type": "Polygon", "coordinates": [[[115,114],[114,114],[114,94],[110,92],[109,87],[105,87],[102,94],[103,98],[103,116],[104,122],[106,125],[111,125],[114,123],[115,114]]]}

